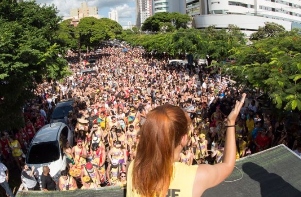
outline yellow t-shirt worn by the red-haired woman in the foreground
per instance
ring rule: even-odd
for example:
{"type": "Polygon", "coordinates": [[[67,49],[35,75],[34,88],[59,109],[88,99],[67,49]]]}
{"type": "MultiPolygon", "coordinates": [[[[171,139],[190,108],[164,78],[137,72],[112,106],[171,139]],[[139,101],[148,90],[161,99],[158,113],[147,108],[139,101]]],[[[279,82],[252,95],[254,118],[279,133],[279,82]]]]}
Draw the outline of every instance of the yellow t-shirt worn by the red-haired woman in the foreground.
{"type": "MultiPolygon", "coordinates": [[[[133,191],[132,186],[132,171],[135,160],[130,164],[127,172],[127,197],[140,197],[136,191],[133,191]]],[[[192,189],[194,179],[197,173],[198,165],[188,166],[180,162],[174,163],[174,176],[169,184],[168,193],[166,197],[192,197],[192,189]]],[[[164,196],[165,197],[165,196],[164,196]]]]}

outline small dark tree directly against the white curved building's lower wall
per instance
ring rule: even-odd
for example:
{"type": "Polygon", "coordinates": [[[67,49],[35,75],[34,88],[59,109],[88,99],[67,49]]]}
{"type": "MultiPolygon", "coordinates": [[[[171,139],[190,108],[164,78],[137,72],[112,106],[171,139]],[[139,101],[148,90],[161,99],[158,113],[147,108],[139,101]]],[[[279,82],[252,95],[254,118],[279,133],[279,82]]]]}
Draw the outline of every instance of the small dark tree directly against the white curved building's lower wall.
{"type": "Polygon", "coordinates": [[[259,27],[258,32],[251,34],[250,40],[262,40],[269,37],[277,36],[280,32],[285,31],[281,24],[275,22],[265,23],[264,27],[259,27]]]}

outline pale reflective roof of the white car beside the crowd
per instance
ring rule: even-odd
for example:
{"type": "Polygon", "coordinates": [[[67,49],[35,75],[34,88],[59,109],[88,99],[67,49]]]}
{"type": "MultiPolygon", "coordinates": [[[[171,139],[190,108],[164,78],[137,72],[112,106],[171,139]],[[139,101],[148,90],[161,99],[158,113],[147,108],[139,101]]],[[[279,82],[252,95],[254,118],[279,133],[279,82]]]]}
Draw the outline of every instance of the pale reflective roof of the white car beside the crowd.
{"type": "Polygon", "coordinates": [[[32,140],[32,144],[51,142],[59,139],[61,129],[66,126],[64,123],[52,123],[42,127],[32,140]]]}

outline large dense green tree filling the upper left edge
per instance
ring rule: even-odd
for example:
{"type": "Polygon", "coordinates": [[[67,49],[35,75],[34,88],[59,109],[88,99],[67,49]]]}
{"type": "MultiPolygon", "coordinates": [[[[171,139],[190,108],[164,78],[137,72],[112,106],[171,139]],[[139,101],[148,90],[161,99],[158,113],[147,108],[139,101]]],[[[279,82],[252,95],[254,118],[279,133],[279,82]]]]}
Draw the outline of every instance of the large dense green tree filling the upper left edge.
{"type": "Polygon", "coordinates": [[[53,5],[34,1],[0,2],[0,129],[19,129],[22,105],[37,84],[70,73],[55,43],[57,13],[53,5]]]}

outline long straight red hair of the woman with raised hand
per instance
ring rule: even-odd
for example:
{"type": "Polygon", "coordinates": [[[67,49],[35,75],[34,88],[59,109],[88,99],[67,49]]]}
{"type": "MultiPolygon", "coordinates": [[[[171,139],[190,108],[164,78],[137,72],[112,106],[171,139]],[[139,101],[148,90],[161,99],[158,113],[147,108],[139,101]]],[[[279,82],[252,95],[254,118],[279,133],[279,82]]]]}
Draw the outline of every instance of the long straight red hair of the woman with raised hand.
{"type": "Polygon", "coordinates": [[[165,197],[173,176],[174,150],[188,133],[189,117],[165,104],[147,114],[132,173],[133,189],[145,197],[165,197]]]}

